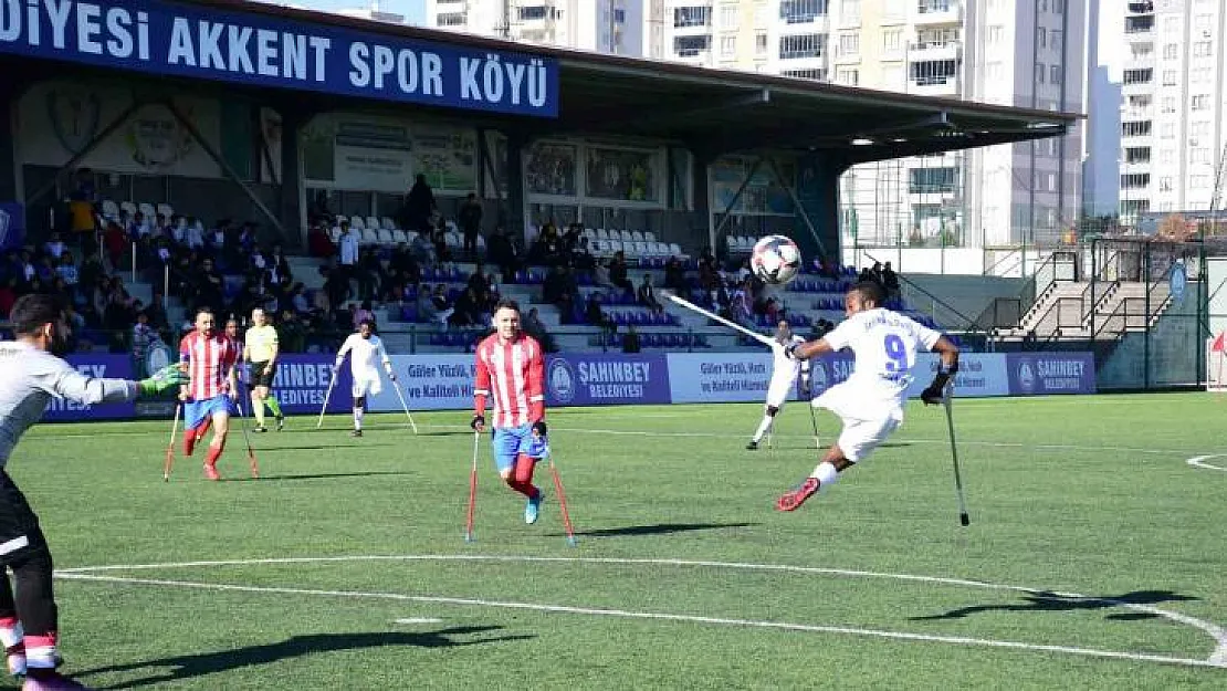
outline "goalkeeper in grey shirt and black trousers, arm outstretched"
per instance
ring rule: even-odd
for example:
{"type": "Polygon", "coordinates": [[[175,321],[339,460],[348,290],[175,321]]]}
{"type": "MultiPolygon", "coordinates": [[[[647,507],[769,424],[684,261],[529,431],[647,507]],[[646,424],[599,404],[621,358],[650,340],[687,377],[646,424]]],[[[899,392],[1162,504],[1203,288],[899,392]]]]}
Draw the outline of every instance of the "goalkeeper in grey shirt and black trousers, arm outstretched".
{"type": "MultiPolygon", "coordinates": [[[[52,398],[80,405],[129,401],[163,393],[188,379],[177,365],[142,382],[99,379],[77,372],[53,355],[66,350],[70,330],[63,306],[52,296],[20,298],[10,320],[17,340],[0,342],[0,643],[9,671],[26,675],[27,691],[85,689],[55,671],[59,622],[52,554],[38,515],[4,468],[17,441],[43,416],[52,398]],[[12,571],[12,585],[5,569],[12,571]]],[[[44,450],[52,448],[47,444],[44,450]]]]}

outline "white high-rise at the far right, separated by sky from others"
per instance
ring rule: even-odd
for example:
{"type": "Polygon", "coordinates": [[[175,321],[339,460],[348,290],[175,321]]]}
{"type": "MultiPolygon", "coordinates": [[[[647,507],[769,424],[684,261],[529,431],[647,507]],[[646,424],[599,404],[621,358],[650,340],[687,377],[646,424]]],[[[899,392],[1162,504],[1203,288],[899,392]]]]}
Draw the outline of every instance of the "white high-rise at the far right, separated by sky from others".
{"type": "Polygon", "coordinates": [[[1205,211],[1227,144],[1222,0],[1128,1],[1120,214],[1205,211]]]}

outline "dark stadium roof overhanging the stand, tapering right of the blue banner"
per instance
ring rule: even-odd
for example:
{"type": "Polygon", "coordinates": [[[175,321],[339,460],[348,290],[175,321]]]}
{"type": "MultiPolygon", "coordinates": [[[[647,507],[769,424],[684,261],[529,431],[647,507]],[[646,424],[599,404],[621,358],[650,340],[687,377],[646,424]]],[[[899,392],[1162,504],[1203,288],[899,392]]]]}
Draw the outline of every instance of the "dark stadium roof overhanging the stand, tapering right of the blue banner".
{"type": "MultiPolygon", "coordinates": [[[[1055,136],[1081,117],[540,47],[244,0],[178,1],[553,58],[561,71],[557,119],[465,113],[475,123],[529,136],[616,133],[674,140],[710,155],[827,150],[858,163],[1055,136]]],[[[355,107],[353,99],[308,93],[303,102],[320,109],[355,107]]]]}

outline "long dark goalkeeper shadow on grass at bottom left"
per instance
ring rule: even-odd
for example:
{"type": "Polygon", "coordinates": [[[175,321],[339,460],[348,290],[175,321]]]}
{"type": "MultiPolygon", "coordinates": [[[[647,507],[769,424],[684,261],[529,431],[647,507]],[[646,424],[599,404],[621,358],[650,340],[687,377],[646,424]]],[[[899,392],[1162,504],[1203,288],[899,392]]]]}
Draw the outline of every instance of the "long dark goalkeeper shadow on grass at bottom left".
{"type": "MultiPolygon", "coordinates": [[[[415,647],[415,648],[455,648],[460,646],[480,646],[483,643],[499,643],[504,641],[524,641],[535,638],[530,635],[515,636],[485,636],[480,638],[456,639],[460,636],[472,636],[501,630],[501,626],[455,626],[429,631],[423,633],[314,633],[309,636],[294,636],[277,643],[263,646],[248,646],[231,650],[217,650],[213,653],[200,653],[196,655],[179,655],[174,658],[152,659],[140,663],[112,665],[90,669],[77,673],[77,676],[96,674],[119,674],[137,670],[150,670],[151,674],[131,681],[123,681],[113,686],[99,686],[98,689],[140,689],[157,684],[168,684],[182,679],[193,679],[209,674],[237,671],[243,668],[265,665],[280,660],[302,658],[319,653],[337,650],[362,650],[372,648],[389,647],[415,647]],[[158,668],[172,668],[158,670],[158,668]]],[[[217,689],[222,685],[215,686],[217,689]]]]}

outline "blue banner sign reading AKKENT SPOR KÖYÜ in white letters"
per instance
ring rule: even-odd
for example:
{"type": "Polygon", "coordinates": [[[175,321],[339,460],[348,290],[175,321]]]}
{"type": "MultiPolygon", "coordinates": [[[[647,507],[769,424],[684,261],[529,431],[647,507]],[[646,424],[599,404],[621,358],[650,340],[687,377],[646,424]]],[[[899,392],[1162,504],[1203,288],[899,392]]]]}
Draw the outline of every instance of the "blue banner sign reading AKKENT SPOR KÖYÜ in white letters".
{"type": "Polygon", "coordinates": [[[0,53],[555,118],[558,63],[162,0],[0,0],[0,53]]]}

